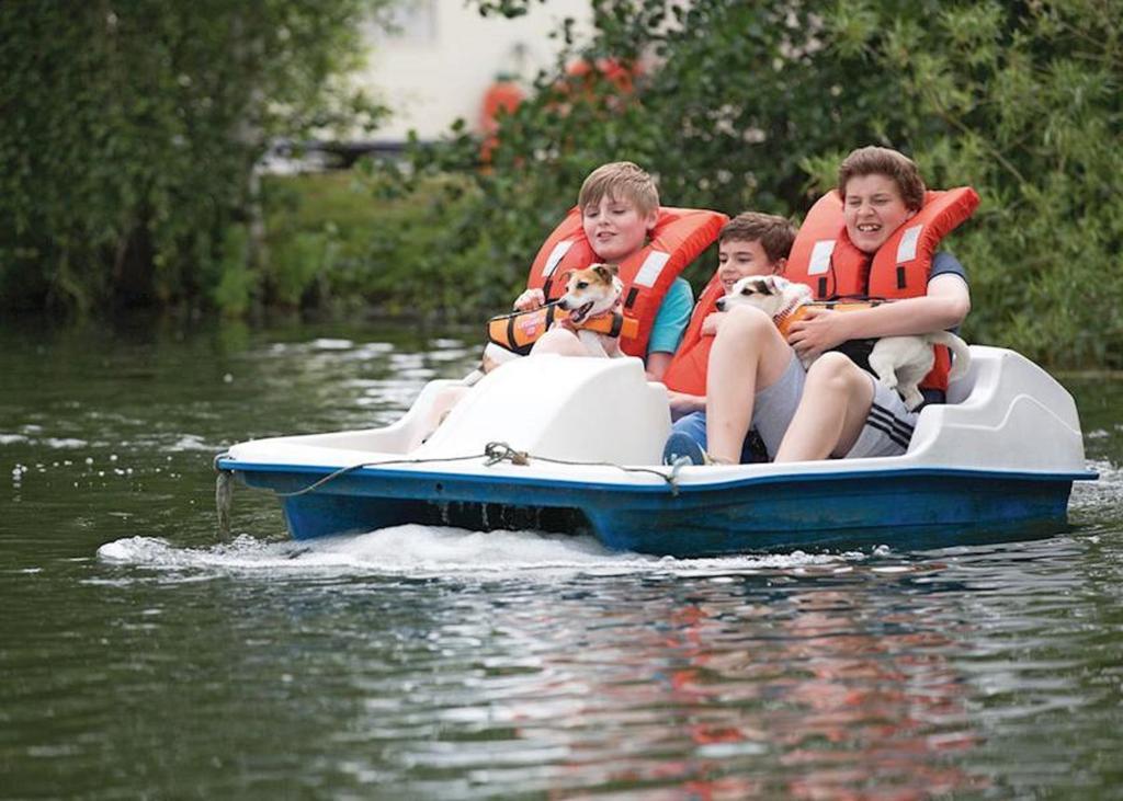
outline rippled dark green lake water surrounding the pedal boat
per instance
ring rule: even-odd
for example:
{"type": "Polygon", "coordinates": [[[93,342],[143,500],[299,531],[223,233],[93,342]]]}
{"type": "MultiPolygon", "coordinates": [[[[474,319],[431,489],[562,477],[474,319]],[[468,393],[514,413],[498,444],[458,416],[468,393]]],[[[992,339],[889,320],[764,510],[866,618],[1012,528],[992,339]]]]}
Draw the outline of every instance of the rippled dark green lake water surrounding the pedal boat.
{"type": "Polygon", "coordinates": [[[214,453],[385,424],[472,335],[0,330],[0,798],[1123,798],[1123,379],[1072,530],[672,560],[292,543],[214,453]]]}

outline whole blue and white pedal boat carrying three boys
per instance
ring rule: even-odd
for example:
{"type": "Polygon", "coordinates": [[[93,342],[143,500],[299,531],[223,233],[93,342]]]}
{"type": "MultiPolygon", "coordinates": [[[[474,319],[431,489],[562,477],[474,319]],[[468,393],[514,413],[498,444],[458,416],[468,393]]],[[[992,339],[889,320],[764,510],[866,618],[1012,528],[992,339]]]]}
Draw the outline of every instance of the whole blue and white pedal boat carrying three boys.
{"type": "Polygon", "coordinates": [[[663,467],[667,395],[638,359],[536,357],[483,378],[423,442],[457,381],[430,383],[386,427],[244,442],[216,463],[276,492],[298,540],[421,523],[700,556],[1065,528],[1072,482],[1096,478],[1072,397],[1013,351],[971,353],[900,457],[663,467]]]}

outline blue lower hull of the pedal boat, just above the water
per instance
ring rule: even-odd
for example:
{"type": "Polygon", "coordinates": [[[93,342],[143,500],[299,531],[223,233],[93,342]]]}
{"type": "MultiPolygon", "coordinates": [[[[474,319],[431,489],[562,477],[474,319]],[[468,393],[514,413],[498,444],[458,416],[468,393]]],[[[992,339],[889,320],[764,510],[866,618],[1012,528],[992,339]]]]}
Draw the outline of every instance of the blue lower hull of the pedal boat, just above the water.
{"type": "MultiPolygon", "coordinates": [[[[282,495],[331,472],[219,467],[282,495]]],[[[1072,480],[1081,478],[925,468],[758,476],[672,492],[663,485],[363,469],[282,500],[298,540],[420,523],[587,532],[613,550],[688,558],[882,543],[913,550],[1056,533],[1067,526],[1072,480]]]]}

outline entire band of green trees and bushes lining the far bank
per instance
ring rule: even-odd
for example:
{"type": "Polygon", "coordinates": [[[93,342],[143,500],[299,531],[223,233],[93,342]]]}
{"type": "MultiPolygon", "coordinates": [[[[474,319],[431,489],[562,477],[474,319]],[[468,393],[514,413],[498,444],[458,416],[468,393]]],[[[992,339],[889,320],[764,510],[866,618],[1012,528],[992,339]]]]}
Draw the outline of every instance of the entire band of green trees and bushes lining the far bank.
{"type": "Polygon", "coordinates": [[[591,2],[592,40],[558,31],[487,164],[460,125],[366,168],[401,213],[365,252],[321,225],[273,237],[272,258],[253,165],[276,136],[377,121],[338,77],[392,0],[0,3],[0,305],[350,296],[477,320],[599,164],[640,163],[668,204],[800,218],[847,151],[882,144],[983,195],[948,242],[969,338],[1123,367],[1119,0],[591,2]]]}

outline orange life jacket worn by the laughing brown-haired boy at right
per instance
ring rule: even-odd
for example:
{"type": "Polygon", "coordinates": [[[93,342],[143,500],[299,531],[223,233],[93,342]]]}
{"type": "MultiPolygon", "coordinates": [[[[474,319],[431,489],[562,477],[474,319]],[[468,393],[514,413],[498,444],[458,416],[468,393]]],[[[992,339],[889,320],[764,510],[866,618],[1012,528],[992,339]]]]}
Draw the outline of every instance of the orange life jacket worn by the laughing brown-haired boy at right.
{"type": "MultiPolygon", "coordinates": [[[[940,240],[970,218],[979,196],[969,186],[924,193],[924,205],[905,220],[870,258],[850,241],[842,199],[828,192],[807,212],[792,246],[784,277],[811,287],[816,300],[919,297],[928,292],[940,240]]],[[[935,348],[935,366],[922,387],[948,388],[951,357],[935,348]]]]}

